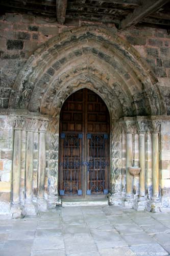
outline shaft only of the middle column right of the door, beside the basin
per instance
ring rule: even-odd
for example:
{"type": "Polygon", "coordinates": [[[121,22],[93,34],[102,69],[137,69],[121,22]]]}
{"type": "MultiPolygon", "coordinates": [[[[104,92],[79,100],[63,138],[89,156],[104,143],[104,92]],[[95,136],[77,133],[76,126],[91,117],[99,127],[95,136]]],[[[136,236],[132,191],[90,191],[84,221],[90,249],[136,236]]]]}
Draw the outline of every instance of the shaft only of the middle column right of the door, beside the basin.
{"type": "Polygon", "coordinates": [[[145,196],[145,134],[139,133],[139,165],[140,181],[139,181],[139,196],[145,196]]]}

